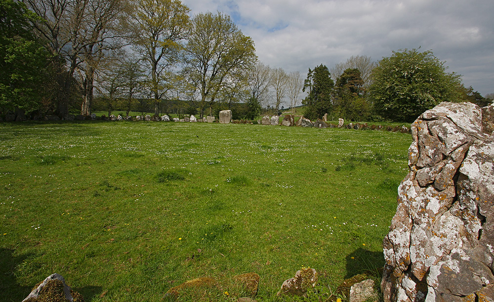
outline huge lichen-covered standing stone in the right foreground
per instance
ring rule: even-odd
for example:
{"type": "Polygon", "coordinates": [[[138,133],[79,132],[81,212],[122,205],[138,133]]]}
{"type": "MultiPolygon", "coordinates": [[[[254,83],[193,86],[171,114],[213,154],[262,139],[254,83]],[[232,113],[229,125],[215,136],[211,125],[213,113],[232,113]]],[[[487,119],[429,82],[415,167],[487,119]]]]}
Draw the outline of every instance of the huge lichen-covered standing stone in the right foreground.
{"type": "Polygon", "coordinates": [[[383,242],[385,302],[494,301],[488,118],[471,103],[441,103],[412,124],[410,172],[383,242]]]}

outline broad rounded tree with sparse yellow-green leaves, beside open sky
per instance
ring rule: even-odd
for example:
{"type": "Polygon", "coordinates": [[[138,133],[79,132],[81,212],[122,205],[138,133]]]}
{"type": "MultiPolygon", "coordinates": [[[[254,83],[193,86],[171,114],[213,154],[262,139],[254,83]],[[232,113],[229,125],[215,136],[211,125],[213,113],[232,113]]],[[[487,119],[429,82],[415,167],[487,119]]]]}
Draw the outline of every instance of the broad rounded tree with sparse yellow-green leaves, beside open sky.
{"type": "Polygon", "coordinates": [[[257,57],[254,42],[244,36],[230,16],[220,12],[200,13],[192,20],[192,33],[186,45],[186,72],[200,91],[201,117],[209,112],[227,79],[239,70],[252,68],[257,57]]]}

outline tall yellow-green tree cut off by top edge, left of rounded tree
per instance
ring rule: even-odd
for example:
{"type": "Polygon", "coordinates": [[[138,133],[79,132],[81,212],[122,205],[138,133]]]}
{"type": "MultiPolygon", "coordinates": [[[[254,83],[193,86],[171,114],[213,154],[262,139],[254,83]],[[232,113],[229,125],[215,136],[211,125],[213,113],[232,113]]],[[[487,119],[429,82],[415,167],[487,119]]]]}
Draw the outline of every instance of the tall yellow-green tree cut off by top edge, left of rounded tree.
{"type": "Polygon", "coordinates": [[[149,88],[155,101],[155,115],[158,115],[161,99],[174,86],[173,68],[183,49],[181,41],[189,37],[190,9],[180,0],[135,0],[133,3],[132,42],[151,69],[149,88]]]}

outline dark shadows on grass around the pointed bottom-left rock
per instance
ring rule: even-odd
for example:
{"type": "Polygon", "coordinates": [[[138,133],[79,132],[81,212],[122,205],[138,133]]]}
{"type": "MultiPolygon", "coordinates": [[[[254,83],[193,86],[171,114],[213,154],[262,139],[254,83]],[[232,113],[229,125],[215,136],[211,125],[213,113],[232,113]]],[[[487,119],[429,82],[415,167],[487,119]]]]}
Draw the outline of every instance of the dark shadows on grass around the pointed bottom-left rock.
{"type": "MultiPolygon", "coordinates": [[[[39,282],[31,286],[21,286],[14,274],[16,267],[33,254],[14,256],[13,249],[0,248],[0,301],[19,302],[24,300],[39,282]]],[[[45,276],[45,278],[48,276],[45,276]]],[[[70,280],[67,280],[70,285],[70,280]]],[[[101,286],[84,286],[73,288],[79,292],[85,301],[91,301],[101,293],[101,286]]]]}

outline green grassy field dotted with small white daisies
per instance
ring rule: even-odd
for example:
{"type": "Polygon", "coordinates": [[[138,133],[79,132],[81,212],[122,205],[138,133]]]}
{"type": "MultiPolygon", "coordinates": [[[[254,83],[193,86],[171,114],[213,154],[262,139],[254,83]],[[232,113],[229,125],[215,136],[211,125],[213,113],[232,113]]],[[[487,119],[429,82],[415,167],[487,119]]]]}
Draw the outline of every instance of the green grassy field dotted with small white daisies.
{"type": "Polygon", "coordinates": [[[411,136],[82,121],[0,124],[0,143],[0,301],[54,272],[92,302],[158,302],[197,277],[220,281],[201,300],[236,301],[251,271],[257,301],[282,301],[301,267],[324,301],[384,264],[411,136]]]}

